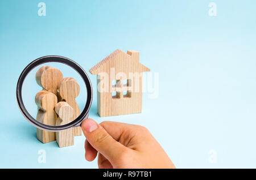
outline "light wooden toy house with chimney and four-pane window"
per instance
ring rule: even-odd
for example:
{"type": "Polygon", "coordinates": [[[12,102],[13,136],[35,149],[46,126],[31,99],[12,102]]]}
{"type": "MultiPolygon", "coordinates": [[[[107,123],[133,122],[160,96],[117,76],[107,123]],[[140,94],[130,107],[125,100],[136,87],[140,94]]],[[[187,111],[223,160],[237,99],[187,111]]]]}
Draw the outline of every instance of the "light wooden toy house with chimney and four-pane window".
{"type": "Polygon", "coordinates": [[[97,109],[100,117],[142,112],[142,74],[139,52],[115,50],[90,69],[97,75],[97,109]]]}

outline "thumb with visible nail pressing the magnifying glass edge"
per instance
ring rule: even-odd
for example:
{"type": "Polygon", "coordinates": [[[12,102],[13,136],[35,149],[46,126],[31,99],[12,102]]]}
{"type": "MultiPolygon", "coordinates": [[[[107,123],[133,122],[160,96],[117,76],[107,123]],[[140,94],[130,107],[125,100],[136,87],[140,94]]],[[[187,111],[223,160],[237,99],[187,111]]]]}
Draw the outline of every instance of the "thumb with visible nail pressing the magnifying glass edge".
{"type": "Polygon", "coordinates": [[[110,162],[118,160],[121,154],[125,152],[126,147],[113,139],[112,136],[110,136],[102,126],[93,121],[93,119],[85,119],[81,127],[90,145],[110,162]]]}

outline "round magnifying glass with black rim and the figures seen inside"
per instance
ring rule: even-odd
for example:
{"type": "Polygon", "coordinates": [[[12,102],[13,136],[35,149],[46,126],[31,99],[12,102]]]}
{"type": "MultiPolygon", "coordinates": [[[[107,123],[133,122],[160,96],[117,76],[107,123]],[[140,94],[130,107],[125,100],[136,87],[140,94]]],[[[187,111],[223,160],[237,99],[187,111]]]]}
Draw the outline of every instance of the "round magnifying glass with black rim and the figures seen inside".
{"type": "Polygon", "coordinates": [[[92,85],[86,72],[74,61],[48,56],[31,62],[20,75],[16,89],[19,109],[38,127],[38,133],[73,128],[88,117],[92,85]]]}

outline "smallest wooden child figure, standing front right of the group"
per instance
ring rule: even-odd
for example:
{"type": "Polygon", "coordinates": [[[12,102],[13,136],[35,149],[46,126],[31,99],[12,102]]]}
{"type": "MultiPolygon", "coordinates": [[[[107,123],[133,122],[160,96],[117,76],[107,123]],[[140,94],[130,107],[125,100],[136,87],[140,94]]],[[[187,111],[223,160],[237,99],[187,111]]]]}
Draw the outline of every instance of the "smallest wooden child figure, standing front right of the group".
{"type": "MultiPolygon", "coordinates": [[[[55,112],[59,115],[59,118],[57,118],[56,121],[56,126],[61,126],[71,122],[71,118],[73,117],[74,111],[73,108],[71,108],[71,106],[69,106],[67,102],[59,102],[55,106],[55,112]]],[[[56,142],[60,148],[69,145],[74,145],[73,132],[73,128],[56,132],[56,142]]]]}

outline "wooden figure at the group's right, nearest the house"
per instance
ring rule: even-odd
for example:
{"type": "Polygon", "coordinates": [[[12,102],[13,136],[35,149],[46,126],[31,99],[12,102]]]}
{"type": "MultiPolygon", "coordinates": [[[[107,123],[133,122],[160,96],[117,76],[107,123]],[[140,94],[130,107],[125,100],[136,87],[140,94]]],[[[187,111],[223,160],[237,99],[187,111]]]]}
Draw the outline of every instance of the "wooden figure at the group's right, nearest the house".
{"type": "MultiPolygon", "coordinates": [[[[64,78],[59,84],[59,93],[61,98],[73,108],[74,113],[71,121],[75,120],[81,114],[79,105],[76,102],[76,97],[80,93],[79,84],[74,78],[64,78]]],[[[74,128],[74,135],[82,135],[81,127],[74,128]]]]}

